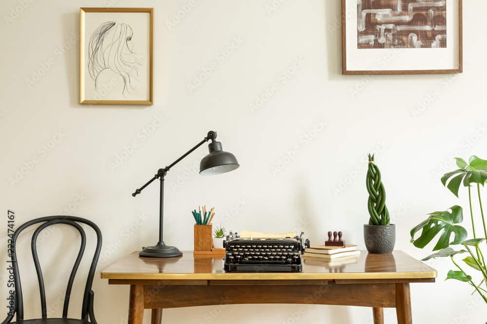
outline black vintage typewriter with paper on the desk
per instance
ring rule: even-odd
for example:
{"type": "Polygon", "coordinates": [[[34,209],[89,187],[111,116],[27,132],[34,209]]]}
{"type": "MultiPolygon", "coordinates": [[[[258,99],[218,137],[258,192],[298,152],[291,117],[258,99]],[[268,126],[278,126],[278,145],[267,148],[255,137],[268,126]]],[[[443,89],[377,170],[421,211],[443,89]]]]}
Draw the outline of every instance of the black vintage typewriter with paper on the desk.
{"type": "Polygon", "coordinates": [[[239,238],[237,233],[227,236],[224,242],[227,272],[301,272],[301,253],[309,247],[300,237],[259,239],[239,238]]]}

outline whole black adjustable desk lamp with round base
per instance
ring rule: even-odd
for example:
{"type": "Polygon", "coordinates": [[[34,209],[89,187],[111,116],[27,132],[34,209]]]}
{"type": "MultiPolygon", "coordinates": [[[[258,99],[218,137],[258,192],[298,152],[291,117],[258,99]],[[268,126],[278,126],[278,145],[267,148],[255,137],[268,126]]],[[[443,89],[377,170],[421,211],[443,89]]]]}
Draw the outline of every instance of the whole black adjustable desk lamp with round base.
{"type": "Polygon", "coordinates": [[[169,169],[172,168],[176,163],[184,159],[189,153],[193,152],[210,139],[211,143],[208,144],[208,150],[210,153],[201,160],[200,174],[213,175],[237,169],[240,165],[237,162],[235,156],[232,153],[224,152],[222,150],[222,143],[217,142],[215,138],[216,132],[209,131],[205,139],[203,139],[195,147],[193,147],[183,156],[174,161],[171,165],[169,165],[169,167],[159,169],[159,171],[157,171],[157,174],[154,175],[154,177],[150,179],[148,183],[132,193],[132,196],[135,197],[137,194],[140,193],[140,191],[149,186],[150,183],[155,179],[159,178],[161,180],[161,197],[159,207],[159,242],[157,242],[157,244],[154,246],[144,247],[143,250],[139,253],[139,256],[171,257],[183,255],[183,252],[179,251],[177,247],[166,245],[164,243],[164,240],[162,239],[164,221],[164,177],[166,176],[166,173],[169,171],[169,169]]]}

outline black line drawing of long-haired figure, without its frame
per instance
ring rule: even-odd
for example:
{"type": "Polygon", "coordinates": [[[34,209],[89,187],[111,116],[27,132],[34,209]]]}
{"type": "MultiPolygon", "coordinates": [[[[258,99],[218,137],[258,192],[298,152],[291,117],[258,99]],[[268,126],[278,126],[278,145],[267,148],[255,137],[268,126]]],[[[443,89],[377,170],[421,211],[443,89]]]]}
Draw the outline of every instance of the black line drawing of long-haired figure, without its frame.
{"type": "Polygon", "coordinates": [[[138,67],[141,66],[134,60],[132,35],[129,25],[114,21],[104,22],[94,31],[88,48],[88,72],[94,81],[95,90],[98,89],[100,73],[110,69],[123,79],[122,95],[125,97],[126,92],[131,93],[132,81],[139,81],[138,67]]]}

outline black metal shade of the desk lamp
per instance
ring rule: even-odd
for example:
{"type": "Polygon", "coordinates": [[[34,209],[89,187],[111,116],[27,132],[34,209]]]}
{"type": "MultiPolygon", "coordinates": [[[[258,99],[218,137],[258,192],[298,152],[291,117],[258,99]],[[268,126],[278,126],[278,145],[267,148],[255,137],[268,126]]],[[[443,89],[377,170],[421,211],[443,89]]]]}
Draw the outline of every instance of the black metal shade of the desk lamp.
{"type": "Polygon", "coordinates": [[[201,175],[225,173],[240,167],[235,155],[223,151],[222,143],[211,142],[208,144],[208,150],[210,153],[201,159],[201,175]]]}

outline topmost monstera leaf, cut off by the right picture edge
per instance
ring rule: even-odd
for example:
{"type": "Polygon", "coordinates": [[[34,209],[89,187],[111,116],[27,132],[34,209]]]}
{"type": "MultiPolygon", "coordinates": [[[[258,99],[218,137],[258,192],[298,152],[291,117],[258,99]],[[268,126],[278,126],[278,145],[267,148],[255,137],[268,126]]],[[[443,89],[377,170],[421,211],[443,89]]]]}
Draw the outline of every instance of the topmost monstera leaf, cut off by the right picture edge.
{"type": "Polygon", "coordinates": [[[460,168],[455,171],[445,173],[441,177],[441,183],[450,189],[455,196],[458,197],[458,190],[463,182],[465,187],[470,187],[470,184],[477,183],[484,186],[487,180],[487,160],[478,158],[472,155],[467,162],[464,159],[455,157],[456,164],[460,168]],[[450,182],[447,185],[447,181],[450,182]]]}

